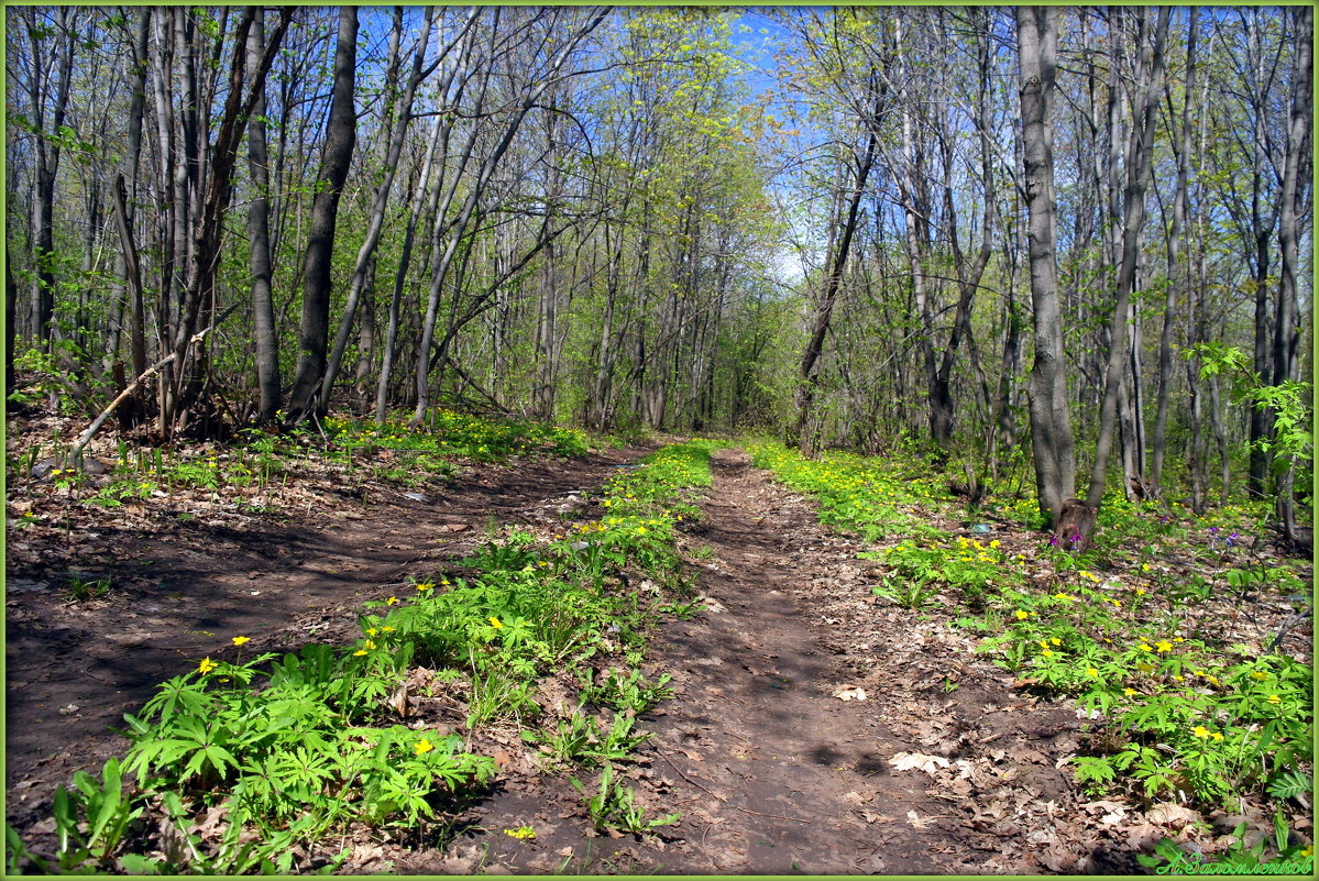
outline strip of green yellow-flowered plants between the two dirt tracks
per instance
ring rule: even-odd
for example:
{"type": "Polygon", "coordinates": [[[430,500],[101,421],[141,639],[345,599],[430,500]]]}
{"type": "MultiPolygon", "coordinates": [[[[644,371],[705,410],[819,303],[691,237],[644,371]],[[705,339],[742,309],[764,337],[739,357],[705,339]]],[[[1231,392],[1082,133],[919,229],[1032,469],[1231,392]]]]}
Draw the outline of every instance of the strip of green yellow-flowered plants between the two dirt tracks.
{"type": "Polygon", "coordinates": [[[642,670],[646,634],[666,599],[691,596],[675,532],[699,516],[714,446],[620,470],[596,521],[505,530],[365,603],[351,645],[244,657],[249,640],[231,637],[125,715],[125,756],[58,791],[54,853],[9,830],[11,872],[332,870],[347,852],[315,860],[309,845],[350,826],[443,839],[509,743],[572,774],[598,827],[673,822],[646,819],[615,768],[648,737],[640,714],[671,694],[642,670]],[[588,774],[598,786],[575,777],[588,774]]]}

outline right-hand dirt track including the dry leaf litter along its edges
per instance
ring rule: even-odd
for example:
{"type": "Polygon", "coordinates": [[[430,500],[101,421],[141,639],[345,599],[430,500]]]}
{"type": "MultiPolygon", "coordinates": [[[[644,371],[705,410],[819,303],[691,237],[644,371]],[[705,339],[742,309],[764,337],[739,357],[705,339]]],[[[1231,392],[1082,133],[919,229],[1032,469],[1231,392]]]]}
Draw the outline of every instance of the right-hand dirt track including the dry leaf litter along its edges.
{"type": "Polygon", "coordinates": [[[1055,765],[1072,712],[1013,691],[947,621],[874,597],[861,543],[745,452],[716,454],[703,506],[685,543],[707,608],[653,638],[646,666],[675,694],[642,716],[653,737],[624,768],[648,818],[681,822],[592,839],[582,797],[541,778],[398,870],[1009,873],[1091,852],[1054,819],[1071,797],[1055,765]],[[865,699],[838,696],[857,687],[865,699]],[[896,768],[901,753],[931,770],[896,768]],[[520,826],[536,839],[500,834],[520,826]]]}

